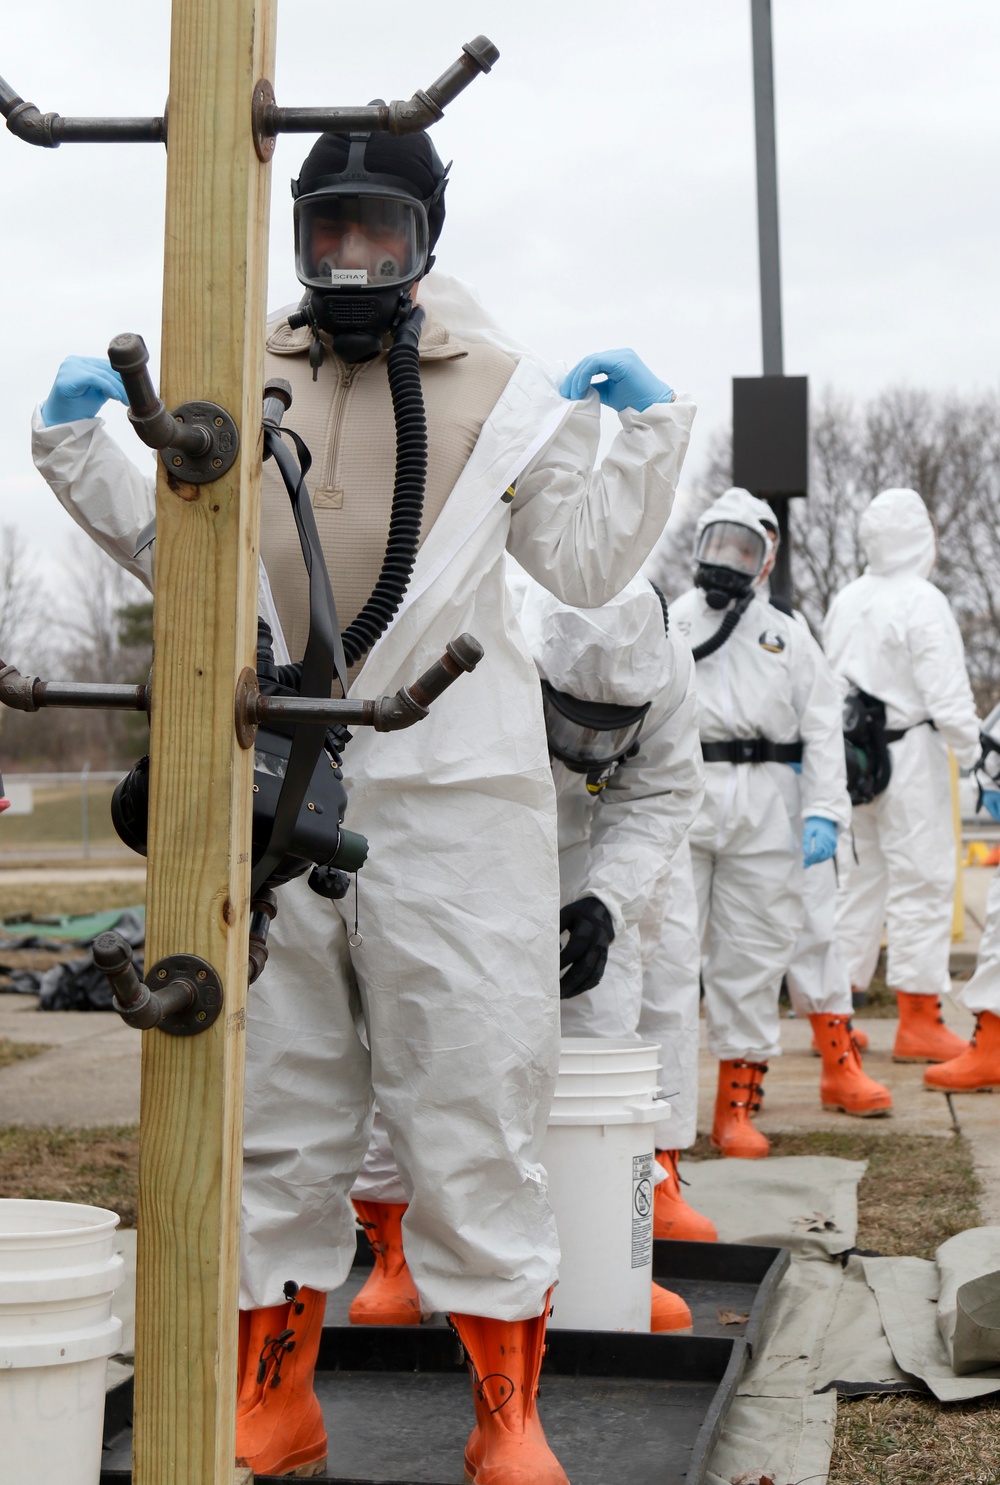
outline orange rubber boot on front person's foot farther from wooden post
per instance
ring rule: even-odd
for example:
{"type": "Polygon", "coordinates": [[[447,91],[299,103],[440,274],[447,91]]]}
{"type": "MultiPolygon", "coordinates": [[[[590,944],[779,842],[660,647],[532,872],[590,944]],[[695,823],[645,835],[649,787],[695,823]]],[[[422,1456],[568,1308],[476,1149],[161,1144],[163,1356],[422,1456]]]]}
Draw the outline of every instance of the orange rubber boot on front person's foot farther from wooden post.
{"type": "Polygon", "coordinates": [[[569,1485],[535,1406],[547,1316],[548,1296],[535,1320],[449,1316],[473,1378],[475,1427],[465,1445],[465,1478],[474,1485],[569,1485]]]}

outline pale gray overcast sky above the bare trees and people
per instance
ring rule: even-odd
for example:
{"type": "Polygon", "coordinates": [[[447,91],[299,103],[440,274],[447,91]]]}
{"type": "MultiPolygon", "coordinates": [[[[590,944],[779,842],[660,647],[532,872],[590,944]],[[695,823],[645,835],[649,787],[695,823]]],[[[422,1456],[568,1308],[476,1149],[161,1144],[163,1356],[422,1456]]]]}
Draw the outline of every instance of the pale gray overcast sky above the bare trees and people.
{"type": "MultiPolygon", "coordinates": [[[[501,49],[434,129],[455,157],[438,247],[519,339],[632,345],[700,404],[689,469],[761,371],[749,0],[279,0],[278,101],[409,98],[477,31],[501,49]]],[[[1000,6],[773,0],[785,365],[813,389],[999,380],[1000,6]]],[[[4,6],[0,73],[42,110],[160,113],[168,0],[4,6]]],[[[299,297],[275,154],[270,303],[299,297]]],[[[73,523],[34,472],[61,358],[138,330],[156,358],[158,146],[31,148],[0,131],[0,524],[46,566],[73,523]]],[[[137,462],[149,456],[108,417],[137,462]]]]}

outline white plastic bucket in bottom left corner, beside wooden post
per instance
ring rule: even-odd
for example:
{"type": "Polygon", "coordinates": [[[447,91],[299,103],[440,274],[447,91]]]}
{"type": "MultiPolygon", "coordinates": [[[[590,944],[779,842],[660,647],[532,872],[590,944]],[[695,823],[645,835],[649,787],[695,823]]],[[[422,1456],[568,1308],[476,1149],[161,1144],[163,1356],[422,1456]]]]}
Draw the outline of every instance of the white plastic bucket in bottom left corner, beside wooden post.
{"type": "Polygon", "coordinates": [[[97,1485],[107,1359],[122,1344],[119,1218],[0,1200],[0,1479],[97,1485]]]}

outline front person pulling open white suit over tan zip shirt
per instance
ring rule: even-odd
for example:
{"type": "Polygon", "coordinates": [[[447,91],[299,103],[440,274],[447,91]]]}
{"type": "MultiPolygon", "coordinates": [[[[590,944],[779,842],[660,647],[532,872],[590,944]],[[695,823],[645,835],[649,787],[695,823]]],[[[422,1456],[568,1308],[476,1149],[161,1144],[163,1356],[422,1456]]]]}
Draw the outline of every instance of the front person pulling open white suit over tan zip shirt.
{"type": "MultiPolygon", "coordinates": [[[[302,328],[284,315],[269,328],[266,373],[293,385],[285,422],[312,450],[314,505],[346,621],[382,558],[392,490],[383,347],[419,284],[429,446],[421,546],[351,693],[394,692],[462,631],[486,659],[419,726],[360,729],[351,742],[349,820],[370,841],[363,943],[348,944],[346,904],[316,898],[305,879],[278,890],[247,1020],[238,1457],[259,1473],[315,1473],[325,1460],[312,1375],[325,1292],[355,1250],[349,1191],[374,1093],[409,1191],[421,1298],[450,1313],[470,1359],[468,1478],[563,1485],[535,1408],[559,1261],[538,1163],[559,1059],[554,794],[504,560],[511,551],[569,603],[612,598],[669,515],[694,405],[624,350],[581,362],[563,396],[453,282],[435,296],[422,276],[444,177],[426,135],[322,135],[294,184],[302,328]],[[374,342],[367,359],[351,359],[355,331],[342,333],[339,306],[368,273],[379,284],[366,300],[374,342]],[[461,333],[449,325],[452,301],[461,333]],[[391,318],[379,319],[386,303],[391,318]],[[597,394],[594,376],[606,377],[597,394]],[[621,432],[594,472],[602,401],[621,432]],[[300,1287],[282,1301],[290,1274],[300,1287]]],[[[122,391],[107,362],[64,364],[34,419],[34,457],[70,514],[149,581],[149,560],[134,551],[153,514],[152,481],[94,416],[108,395],[122,391]]],[[[306,582],[272,469],[262,554],[297,658],[306,582]]]]}

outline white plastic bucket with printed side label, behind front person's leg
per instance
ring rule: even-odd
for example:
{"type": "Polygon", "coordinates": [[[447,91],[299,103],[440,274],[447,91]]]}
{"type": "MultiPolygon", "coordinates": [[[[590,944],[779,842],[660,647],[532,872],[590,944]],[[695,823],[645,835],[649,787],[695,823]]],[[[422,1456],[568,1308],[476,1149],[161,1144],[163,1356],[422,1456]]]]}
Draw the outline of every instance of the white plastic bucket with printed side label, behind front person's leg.
{"type": "Polygon", "coordinates": [[[542,1164],[562,1262],[553,1329],[648,1331],[660,1048],[563,1037],[542,1164]]]}

